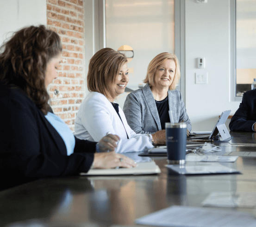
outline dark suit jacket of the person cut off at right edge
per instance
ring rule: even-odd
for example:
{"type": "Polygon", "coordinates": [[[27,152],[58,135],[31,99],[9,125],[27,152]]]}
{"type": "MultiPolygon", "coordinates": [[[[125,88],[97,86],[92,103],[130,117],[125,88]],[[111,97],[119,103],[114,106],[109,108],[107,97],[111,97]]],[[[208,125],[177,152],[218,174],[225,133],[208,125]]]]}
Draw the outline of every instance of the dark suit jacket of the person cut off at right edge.
{"type": "Polygon", "coordinates": [[[251,127],[256,122],[256,90],[244,93],[234,116],[231,118],[229,128],[231,131],[252,131],[251,127]]]}

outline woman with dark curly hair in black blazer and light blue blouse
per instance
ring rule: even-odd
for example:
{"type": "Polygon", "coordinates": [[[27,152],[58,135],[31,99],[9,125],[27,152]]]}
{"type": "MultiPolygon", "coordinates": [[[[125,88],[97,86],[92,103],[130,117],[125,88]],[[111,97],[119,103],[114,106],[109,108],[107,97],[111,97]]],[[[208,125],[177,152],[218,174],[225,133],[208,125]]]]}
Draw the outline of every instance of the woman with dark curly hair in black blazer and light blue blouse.
{"type": "Polygon", "coordinates": [[[91,167],[136,166],[115,153],[118,136],[108,134],[99,143],[78,139],[52,113],[46,89],[61,52],[60,37],[43,25],[17,31],[0,49],[0,190],[91,167]]]}

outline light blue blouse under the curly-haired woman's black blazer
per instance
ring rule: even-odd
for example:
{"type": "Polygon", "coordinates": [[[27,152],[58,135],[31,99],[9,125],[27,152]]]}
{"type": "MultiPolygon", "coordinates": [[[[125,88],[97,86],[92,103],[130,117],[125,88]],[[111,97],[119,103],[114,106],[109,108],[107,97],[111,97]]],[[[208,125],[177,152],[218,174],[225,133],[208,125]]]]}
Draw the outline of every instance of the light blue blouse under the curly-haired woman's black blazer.
{"type": "Polygon", "coordinates": [[[60,117],[50,112],[48,112],[48,114],[45,115],[45,118],[50,122],[50,124],[56,129],[56,131],[62,137],[67,148],[67,155],[73,154],[75,148],[75,137],[72,131],[69,129],[68,125],[66,125],[60,117]]]}

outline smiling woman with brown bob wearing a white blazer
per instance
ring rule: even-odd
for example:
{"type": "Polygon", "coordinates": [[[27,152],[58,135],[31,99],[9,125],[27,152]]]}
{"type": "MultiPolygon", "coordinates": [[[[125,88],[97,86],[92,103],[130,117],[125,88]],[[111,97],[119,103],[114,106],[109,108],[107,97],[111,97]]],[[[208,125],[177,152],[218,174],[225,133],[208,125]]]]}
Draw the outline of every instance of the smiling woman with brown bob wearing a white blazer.
{"type": "Polygon", "coordinates": [[[99,141],[110,132],[120,137],[116,153],[143,151],[153,144],[165,144],[165,134],[136,134],[127,124],[115,98],[124,93],[129,81],[127,58],[111,48],[98,51],[89,63],[85,97],[75,119],[75,136],[99,141]]]}

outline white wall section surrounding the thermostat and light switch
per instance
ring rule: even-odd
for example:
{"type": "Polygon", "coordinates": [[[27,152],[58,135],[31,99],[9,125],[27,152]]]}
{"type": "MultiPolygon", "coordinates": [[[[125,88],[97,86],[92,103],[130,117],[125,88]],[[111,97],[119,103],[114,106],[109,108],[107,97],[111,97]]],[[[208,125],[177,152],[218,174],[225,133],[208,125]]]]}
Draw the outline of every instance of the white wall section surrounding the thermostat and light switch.
{"type": "Polygon", "coordinates": [[[185,4],[187,114],[192,131],[211,131],[222,111],[234,114],[240,103],[230,101],[230,1],[185,4]],[[196,68],[199,57],[206,58],[205,69],[196,68]],[[207,72],[208,84],[195,84],[196,72],[207,72]]]}

